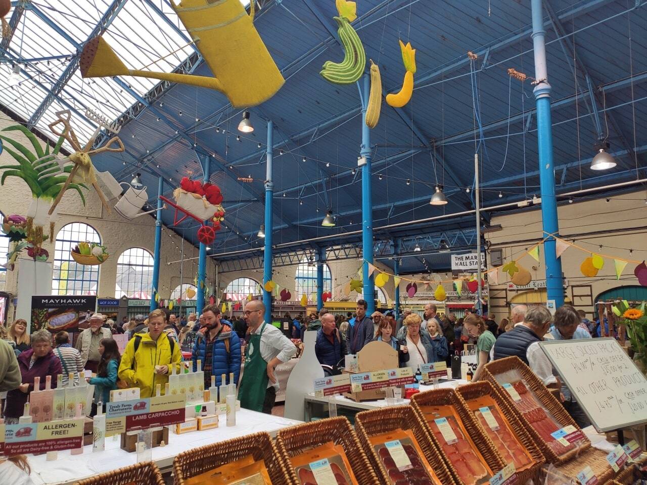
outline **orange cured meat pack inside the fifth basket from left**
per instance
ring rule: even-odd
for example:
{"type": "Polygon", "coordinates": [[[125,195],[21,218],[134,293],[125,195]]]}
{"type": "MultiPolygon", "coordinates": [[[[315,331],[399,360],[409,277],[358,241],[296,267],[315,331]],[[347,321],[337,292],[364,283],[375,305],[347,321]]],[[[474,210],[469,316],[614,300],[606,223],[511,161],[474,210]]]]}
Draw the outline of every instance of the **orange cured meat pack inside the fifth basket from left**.
{"type": "Polygon", "coordinates": [[[421,405],[433,436],[465,485],[488,484],[494,475],[450,405],[421,405]]]}

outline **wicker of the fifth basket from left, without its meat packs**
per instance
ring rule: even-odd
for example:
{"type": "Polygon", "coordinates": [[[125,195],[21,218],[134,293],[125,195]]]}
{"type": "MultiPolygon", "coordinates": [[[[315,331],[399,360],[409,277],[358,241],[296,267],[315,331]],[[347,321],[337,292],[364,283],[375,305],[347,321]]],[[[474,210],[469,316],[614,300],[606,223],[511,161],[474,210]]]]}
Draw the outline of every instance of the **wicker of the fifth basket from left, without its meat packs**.
{"type": "Polygon", "coordinates": [[[456,393],[454,389],[434,389],[433,391],[427,391],[426,393],[414,394],[413,398],[411,398],[411,405],[417,413],[419,420],[424,424],[424,429],[428,433],[433,444],[437,449],[439,449],[439,452],[443,456],[447,468],[452,472],[456,483],[462,485],[463,481],[460,479],[454,465],[444,453],[443,447],[433,435],[432,430],[422,413],[421,406],[450,405],[454,407],[455,411],[461,418],[461,422],[463,423],[463,426],[465,426],[469,437],[476,445],[477,451],[483,456],[490,469],[492,469],[494,473],[497,473],[506,465],[501,455],[499,455],[499,452],[496,451],[496,446],[494,446],[492,440],[488,438],[483,429],[479,426],[476,421],[476,417],[472,414],[472,411],[470,411],[463,398],[460,394],[456,393]]]}

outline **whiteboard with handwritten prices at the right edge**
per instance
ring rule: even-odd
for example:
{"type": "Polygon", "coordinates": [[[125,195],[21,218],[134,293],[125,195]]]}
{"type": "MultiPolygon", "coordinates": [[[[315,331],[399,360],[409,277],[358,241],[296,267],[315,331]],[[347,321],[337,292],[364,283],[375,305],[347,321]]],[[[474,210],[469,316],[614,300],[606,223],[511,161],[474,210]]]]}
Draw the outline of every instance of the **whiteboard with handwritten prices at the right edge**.
{"type": "Polygon", "coordinates": [[[647,422],[647,379],[613,338],[539,344],[598,431],[647,422]]]}

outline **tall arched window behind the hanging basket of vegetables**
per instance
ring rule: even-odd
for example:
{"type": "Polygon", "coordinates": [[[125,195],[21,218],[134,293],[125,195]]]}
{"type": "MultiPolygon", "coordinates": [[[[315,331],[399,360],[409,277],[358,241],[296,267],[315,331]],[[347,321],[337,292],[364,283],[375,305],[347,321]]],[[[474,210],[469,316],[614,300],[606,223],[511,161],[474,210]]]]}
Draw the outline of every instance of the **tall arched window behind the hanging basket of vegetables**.
{"type": "Polygon", "coordinates": [[[71,250],[79,242],[101,242],[99,233],[83,222],[65,224],[56,234],[52,295],[96,295],[99,285],[99,265],[78,264],[71,250]]]}

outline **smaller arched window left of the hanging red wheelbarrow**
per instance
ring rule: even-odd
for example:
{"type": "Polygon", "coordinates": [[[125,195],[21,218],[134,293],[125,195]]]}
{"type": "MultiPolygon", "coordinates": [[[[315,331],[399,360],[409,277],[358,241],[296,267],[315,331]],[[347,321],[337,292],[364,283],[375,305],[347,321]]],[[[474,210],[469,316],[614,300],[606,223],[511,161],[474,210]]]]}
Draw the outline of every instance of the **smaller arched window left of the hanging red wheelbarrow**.
{"type": "MultiPolygon", "coordinates": [[[[159,291],[159,288],[157,288],[159,291]]],[[[149,299],[153,292],[153,255],[144,248],[130,248],[117,260],[115,298],[149,299]]]]}

